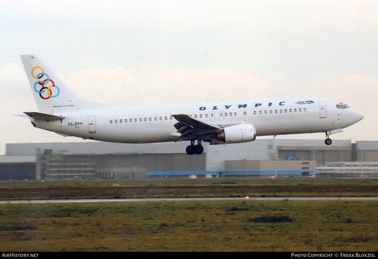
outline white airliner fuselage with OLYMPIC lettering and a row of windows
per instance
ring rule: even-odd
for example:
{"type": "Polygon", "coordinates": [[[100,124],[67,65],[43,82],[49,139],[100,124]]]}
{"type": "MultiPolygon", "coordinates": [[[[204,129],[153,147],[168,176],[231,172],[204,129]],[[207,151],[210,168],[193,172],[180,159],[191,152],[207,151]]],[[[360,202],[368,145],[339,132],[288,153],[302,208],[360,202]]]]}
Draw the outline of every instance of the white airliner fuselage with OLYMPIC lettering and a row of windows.
{"type": "Polygon", "coordinates": [[[287,97],[251,100],[184,103],[172,105],[109,107],[65,111],[65,119],[52,122],[31,119],[37,128],[83,139],[119,143],[177,141],[173,114],[222,128],[253,124],[257,136],[327,132],[345,128],[363,119],[352,108],[337,108],[340,102],[318,97],[287,97]]]}

